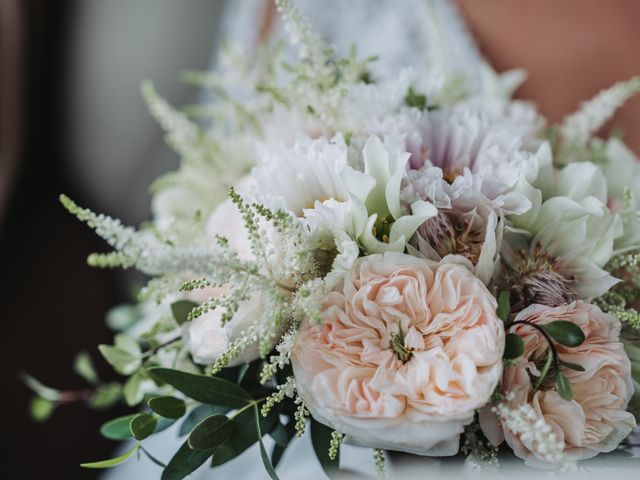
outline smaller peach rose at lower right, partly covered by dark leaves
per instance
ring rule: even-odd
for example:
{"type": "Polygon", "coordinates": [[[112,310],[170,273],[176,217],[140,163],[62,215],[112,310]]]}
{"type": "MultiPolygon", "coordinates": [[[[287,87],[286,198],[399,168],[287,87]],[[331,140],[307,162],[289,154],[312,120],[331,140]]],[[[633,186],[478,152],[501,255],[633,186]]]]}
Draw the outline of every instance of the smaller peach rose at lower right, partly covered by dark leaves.
{"type": "MultiPolygon", "coordinates": [[[[506,368],[502,381],[504,391],[514,395],[510,406],[529,403],[556,438],[564,442],[564,454],[570,460],[583,460],[615,449],[635,426],[633,415],[625,411],[633,395],[633,384],[631,365],[619,341],[620,322],[583,301],[554,308],[531,305],[516,320],[539,325],[568,320],[578,325],[585,341],[575,348],[556,343],[556,348],[560,360],[581,365],[585,371],[562,369],[571,382],[571,401],[560,398],[551,381],[534,392],[535,379],[546,359],[547,342],[534,328],[519,325],[514,333],[524,339],[524,362],[506,368]]],[[[506,428],[504,437],[515,454],[528,464],[545,463],[529,441],[506,428]]]]}

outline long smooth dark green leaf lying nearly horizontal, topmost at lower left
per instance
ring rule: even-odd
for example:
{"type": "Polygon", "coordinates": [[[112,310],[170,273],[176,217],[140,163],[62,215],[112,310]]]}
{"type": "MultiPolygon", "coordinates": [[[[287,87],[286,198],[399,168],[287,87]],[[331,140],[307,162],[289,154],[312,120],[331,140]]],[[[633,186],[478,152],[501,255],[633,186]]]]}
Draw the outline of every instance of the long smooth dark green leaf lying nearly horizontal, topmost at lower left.
{"type": "Polygon", "coordinates": [[[240,408],[253,400],[246,390],[221,378],[194,375],[169,368],[152,368],[149,374],[168,383],[187,397],[209,405],[240,408]]]}

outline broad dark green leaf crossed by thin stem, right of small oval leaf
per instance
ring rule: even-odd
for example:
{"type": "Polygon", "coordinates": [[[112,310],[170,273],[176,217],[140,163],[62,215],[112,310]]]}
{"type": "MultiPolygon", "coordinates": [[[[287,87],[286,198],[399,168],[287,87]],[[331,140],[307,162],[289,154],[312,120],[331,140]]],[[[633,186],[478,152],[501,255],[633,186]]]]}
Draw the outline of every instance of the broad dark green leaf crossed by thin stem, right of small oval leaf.
{"type": "MultiPolygon", "coordinates": [[[[278,414],[271,412],[266,417],[260,416],[260,431],[270,432],[276,424],[278,414]]],[[[239,411],[233,417],[233,433],[229,439],[213,450],[211,466],[217,467],[236,458],[258,441],[258,431],[252,408],[239,411]]]]}

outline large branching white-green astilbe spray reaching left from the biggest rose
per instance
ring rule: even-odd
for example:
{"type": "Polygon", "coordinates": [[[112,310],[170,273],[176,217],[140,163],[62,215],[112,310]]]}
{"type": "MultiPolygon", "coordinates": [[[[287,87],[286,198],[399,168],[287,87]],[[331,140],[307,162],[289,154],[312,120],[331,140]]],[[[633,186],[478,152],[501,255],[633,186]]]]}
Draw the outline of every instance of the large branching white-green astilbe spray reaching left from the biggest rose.
{"type": "MultiPolygon", "coordinates": [[[[93,265],[135,267],[156,276],[162,280],[153,285],[154,295],[158,295],[155,291],[158,288],[175,285],[171,280],[176,279],[184,281],[183,292],[210,286],[228,288],[225,295],[193,309],[189,320],[220,309],[224,325],[233,318],[242,302],[260,296],[262,309],[259,318],[241,332],[217,359],[214,371],[224,368],[256,343],[260,356],[264,358],[289,326],[299,325],[305,316],[317,315],[319,306],[315,302],[324,291],[322,281],[316,280],[315,260],[302,225],[284,211],[249,205],[233,190],[230,195],[245,222],[252,260],[240,259],[223,237],[218,237],[214,244],[163,243],[147,232],[125,227],[118,220],[96,215],[67,197],[61,197],[71,213],[94,228],[115,249],[112,253],[90,257],[93,265]],[[275,232],[278,247],[272,243],[274,235],[265,233],[268,229],[275,232]],[[274,265],[273,255],[276,253],[278,257],[274,265]],[[186,281],[189,277],[192,280],[186,281]]],[[[290,348],[291,345],[287,345],[287,349],[290,348]]],[[[284,350],[283,354],[288,355],[284,350]]]]}

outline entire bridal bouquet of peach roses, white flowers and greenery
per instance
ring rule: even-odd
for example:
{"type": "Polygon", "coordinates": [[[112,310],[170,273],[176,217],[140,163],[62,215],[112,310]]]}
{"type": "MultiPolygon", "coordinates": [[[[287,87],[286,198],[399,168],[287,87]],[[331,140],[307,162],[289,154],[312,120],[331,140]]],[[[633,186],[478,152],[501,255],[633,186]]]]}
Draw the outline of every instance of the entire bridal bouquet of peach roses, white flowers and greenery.
{"type": "MultiPolygon", "coordinates": [[[[385,451],[566,468],[618,448],[640,403],[640,163],[596,133],[640,78],[549,126],[511,99],[521,72],[376,81],[277,4],[298,61],[228,49],[187,74],[216,100],[184,111],[143,85],[182,159],[151,222],[61,197],[113,247],[90,265],[150,277],[99,347],[124,383],[76,364],[91,405],[135,407],[102,434],[137,442],[84,466],[137,452],[182,479],[257,443],[276,479],[305,429],[329,476],[342,442],[380,475],[385,451]],[[153,457],[174,422],[182,446],[153,457]]],[[[27,382],[40,416],[76,398],[27,382]]]]}

